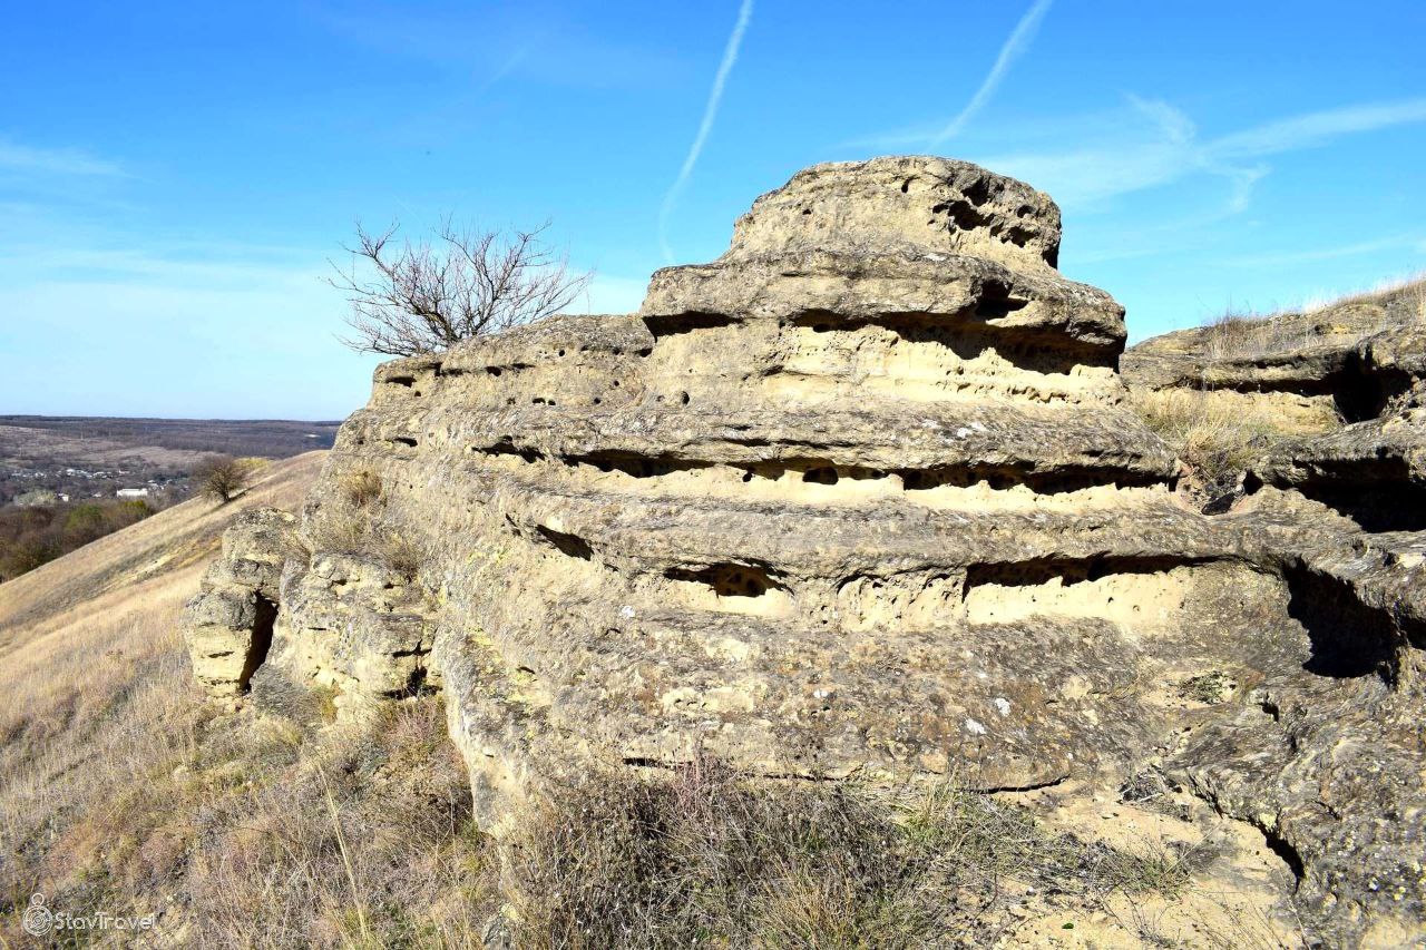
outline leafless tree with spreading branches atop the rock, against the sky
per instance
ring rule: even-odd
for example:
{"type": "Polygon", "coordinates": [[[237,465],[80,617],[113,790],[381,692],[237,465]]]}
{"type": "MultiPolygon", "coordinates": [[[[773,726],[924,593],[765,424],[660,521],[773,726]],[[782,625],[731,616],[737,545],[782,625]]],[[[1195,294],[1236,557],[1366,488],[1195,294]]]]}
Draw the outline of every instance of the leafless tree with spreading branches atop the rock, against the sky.
{"type": "Polygon", "coordinates": [[[548,317],[573,301],[590,275],[570,274],[569,260],[533,231],[456,228],[448,220],[436,240],[392,247],[399,225],[382,234],[356,225],[351,271],[334,265],[328,282],[347,294],[355,337],[342,342],[362,352],[409,357],[446,349],[548,317]],[[359,274],[356,264],[365,267],[359,274]]]}

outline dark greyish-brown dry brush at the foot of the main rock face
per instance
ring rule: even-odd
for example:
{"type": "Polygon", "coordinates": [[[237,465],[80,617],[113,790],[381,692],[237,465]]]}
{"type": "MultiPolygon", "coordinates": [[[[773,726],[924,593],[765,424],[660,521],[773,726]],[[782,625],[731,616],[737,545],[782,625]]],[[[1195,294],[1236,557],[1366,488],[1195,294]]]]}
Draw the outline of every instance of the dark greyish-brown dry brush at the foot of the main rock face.
{"type": "Polygon", "coordinates": [[[1188,882],[1176,854],[1055,834],[951,783],[753,786],[709,762],[563,789],[501,859],[516,944],[539,949],[940,946],[1000,933],[1027,887],[1082,907],[1188,882]]]}

